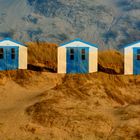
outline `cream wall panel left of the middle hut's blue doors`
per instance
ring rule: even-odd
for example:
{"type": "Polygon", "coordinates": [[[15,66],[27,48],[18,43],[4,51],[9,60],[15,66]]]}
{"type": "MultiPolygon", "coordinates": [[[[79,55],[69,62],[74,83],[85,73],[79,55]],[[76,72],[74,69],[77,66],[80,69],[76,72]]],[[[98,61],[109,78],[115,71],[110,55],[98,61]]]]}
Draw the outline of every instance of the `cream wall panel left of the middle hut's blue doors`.
{"type": "Polygon", "coordinates": [[[58,47],[57,50],[57,72],[66,73],[66,48],[58,47]]]}

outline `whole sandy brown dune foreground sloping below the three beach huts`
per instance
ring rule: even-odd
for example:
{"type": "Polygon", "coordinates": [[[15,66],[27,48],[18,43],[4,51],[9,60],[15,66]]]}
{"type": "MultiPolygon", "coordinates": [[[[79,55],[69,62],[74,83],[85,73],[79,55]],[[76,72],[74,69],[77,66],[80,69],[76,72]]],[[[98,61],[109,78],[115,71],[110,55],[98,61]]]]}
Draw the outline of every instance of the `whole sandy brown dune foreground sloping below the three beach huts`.
{"type": "Polygon", "coordinates": [[[26,87],[6,79],[0,140],[139,140],[139,85],[107,88],[96,76],[44,72],[26,87]]]}

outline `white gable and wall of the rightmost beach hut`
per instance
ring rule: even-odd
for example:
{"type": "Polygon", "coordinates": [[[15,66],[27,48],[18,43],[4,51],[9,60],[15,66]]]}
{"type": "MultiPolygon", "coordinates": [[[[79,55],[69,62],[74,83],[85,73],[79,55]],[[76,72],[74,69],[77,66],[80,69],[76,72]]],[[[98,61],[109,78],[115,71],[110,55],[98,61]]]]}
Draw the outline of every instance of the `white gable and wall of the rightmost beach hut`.
{"type": "Polygon", "coordinates": [[[133,74],[133,48],[139,47],[140,43],[130,45],[124,49],[124,74],[133,74]]]}

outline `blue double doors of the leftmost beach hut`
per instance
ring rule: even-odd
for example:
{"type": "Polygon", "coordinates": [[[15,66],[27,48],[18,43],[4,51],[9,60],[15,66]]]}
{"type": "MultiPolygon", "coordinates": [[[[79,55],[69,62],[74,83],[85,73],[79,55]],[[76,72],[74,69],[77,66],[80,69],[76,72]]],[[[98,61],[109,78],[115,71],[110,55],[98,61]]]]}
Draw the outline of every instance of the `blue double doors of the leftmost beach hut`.
{"type": "Polygon", "coordinates": [[[0,70],[18,69],[18,47],[0,47],[0,70]]]}

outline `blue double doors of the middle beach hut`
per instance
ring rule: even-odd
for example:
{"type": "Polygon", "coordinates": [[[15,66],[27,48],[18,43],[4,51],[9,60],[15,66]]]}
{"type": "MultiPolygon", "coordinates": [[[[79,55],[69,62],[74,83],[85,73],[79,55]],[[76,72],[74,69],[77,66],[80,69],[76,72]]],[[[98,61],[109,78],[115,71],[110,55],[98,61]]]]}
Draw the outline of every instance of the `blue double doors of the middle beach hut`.
{"type": "Polygon", "coordinates": [[[89,48],[67,48],[67,73],[88,73],[89,48]]]}

